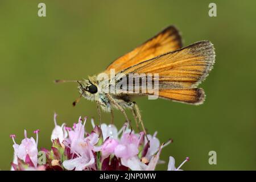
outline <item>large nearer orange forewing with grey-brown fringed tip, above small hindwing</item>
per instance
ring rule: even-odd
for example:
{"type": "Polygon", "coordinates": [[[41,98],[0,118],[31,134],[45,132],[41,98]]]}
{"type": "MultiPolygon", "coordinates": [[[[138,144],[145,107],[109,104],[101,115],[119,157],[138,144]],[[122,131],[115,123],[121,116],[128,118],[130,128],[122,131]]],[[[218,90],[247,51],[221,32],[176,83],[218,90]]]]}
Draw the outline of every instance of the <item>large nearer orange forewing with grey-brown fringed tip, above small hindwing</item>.
{"type": "Polygon", "coordinates": [[[208,76],[214,60],[213,44],[202,41],[142,61],[121,73],[158,73],[159,90],[196,88],[208,76]]]}

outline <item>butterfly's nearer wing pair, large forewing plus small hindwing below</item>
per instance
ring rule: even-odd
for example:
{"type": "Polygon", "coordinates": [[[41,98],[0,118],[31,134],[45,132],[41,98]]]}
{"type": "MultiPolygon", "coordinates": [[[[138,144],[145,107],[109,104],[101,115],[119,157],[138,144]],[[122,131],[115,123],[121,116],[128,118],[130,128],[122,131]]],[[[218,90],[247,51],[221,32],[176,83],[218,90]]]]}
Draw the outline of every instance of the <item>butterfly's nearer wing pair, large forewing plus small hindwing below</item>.
{"type": "MultiPolygon", "coordinates": [[[[126,68],[121,73],[125,75],[137,73],[138,77],[143,73],[146,75],[158,73],[160,98],[199,105],[204,102],[205,94],[203,89],[196,87],[208,76],[214,60],[213,44],[209,41],[202,41],[142,61],[126,68]]],[[[152,80],[154,79],[152,75],[152,80]]],[[[150,95],[151,92],[152,90],[150,92],[147,90],[146,94],[150,95]]]]}

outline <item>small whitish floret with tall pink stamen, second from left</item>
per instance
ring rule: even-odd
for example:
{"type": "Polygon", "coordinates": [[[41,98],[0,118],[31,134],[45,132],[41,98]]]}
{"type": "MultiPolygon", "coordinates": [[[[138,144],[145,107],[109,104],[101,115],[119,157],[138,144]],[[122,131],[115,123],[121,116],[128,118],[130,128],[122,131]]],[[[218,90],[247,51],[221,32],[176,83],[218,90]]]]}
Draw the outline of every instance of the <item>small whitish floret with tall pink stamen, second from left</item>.
{"type": "Polygon", "coordinates": [[[68,133],[64,129],[65,123],[63,123],[61,126],[57,125],[56,117],[57,117],[57,114],[54,113],[54,124],[55,124],[55,127],[54,127],[54,129],[52,131],[51,140],[59,138],[60,143],[62,143],[63,140],[68,137],[68,133]]]}

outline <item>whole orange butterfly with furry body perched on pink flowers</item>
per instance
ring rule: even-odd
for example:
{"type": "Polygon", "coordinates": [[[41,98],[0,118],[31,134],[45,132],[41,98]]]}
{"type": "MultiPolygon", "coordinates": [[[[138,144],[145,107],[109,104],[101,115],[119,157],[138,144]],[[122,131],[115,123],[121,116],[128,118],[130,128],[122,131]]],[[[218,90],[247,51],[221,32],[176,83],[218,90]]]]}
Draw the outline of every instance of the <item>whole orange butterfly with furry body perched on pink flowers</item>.
{"type": "Polygon", "coordinates": [[[146,133],[134,96],[152,96],[157,93],[159,98],[171,101],[203,104],[205,93],[197,86],[208,76],[214,61],[212,43],[206,40],[182,47],[179,31],[175,26],[169,26],[141,46],[113,61],[99,75],[84,80],[56,82],[77,82],[80,97],[73,105],[75,106],[81,97],[96,101],[99,115],[101,109],[110,112],[112,121],[113,108],[120,110],[127,122],[129,118],[126,109],[130,109],[137,127],[139,128],[141,123],[146,133]],[[130,78],[130,75],[135,76],[130,78]],[[155,87],[152,88],[152,85],[155,87]]]}

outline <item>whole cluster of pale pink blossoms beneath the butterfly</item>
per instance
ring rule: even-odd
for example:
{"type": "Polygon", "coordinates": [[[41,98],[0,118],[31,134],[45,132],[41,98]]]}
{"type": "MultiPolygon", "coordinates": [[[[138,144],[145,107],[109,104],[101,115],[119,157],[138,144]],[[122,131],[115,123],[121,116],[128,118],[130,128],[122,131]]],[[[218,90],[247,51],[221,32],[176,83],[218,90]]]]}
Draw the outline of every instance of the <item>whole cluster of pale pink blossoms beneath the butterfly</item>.
{"type": "MultiPolygon", "coordinates": [[[[12,170],[154,170],[156,164],[162,163],[159,160],[162,148],[171,143],[169,140],[160,144],[156,133],[147,137],[143,132],[134,133],[127,123],[118,131],[114,125],[94,125],[92,119],[93,131],[87,133],[86,118],[82,121],[80,117],[71,128],[65,123],[57,125],[56,116],[51,150],[38,151],[39,130],[34,131],[36,140],[28,138],[25,130],[20,144],[16,144],[15,135],[10,135],[14,142],[12,170]]],[[[168,170],[180,170],[188,160],[175,168],[175,160],[170,156],[168,170]]]]}

